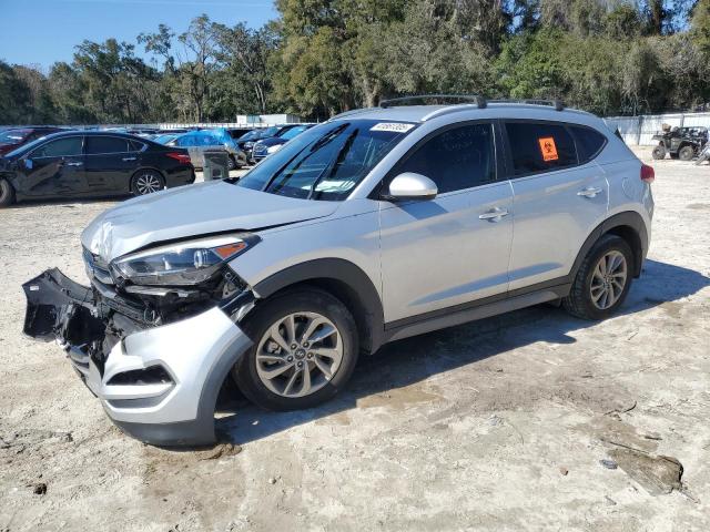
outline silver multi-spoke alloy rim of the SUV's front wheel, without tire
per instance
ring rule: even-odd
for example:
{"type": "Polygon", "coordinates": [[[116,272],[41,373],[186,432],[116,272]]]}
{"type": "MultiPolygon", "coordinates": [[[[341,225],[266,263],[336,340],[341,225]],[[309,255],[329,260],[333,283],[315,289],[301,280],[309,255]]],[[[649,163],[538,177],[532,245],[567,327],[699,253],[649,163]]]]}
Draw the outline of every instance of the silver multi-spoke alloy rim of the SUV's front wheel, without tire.
{"type": "Polygon", "coordinates": [[[304,397],[325,387],[343,360],[343,339],[317,313],[290,314],[266,329],[256,347],[256,372],[272,392],[304,397]]]}

